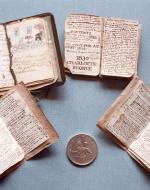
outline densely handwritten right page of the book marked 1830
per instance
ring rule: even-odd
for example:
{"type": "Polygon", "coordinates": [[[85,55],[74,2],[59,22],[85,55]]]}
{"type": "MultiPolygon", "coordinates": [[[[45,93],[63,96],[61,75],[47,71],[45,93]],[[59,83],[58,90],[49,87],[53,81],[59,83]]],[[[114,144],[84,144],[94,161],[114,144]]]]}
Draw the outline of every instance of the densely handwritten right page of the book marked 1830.
{"type": "Polygon", "coordinates": [[[137,73],[139,30],[136,21],[104,19],[101,75],[132,77],[137,73]]]}

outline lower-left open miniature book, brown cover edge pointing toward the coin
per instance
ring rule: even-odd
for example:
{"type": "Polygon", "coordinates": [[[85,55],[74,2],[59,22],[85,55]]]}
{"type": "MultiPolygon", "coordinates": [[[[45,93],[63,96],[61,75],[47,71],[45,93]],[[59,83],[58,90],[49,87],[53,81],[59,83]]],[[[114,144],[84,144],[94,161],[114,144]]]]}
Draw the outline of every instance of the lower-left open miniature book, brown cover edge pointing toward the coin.
{"type": "Polygon", "coordinates": [[[56,131],[22,83],[0,99],[0,177],[57,138],[56,131]]]}

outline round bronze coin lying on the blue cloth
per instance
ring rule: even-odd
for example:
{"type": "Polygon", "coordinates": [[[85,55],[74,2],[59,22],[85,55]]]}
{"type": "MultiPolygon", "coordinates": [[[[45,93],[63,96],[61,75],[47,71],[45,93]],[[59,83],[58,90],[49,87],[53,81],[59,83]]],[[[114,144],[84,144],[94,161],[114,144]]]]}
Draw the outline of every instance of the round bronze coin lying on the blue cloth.
{"type": "Polygon", "coordinates": [[[85,134],[72,137],[67,145],[67,156],[76,165],[89,165],[97,156],[95,140],[85,134]]]}

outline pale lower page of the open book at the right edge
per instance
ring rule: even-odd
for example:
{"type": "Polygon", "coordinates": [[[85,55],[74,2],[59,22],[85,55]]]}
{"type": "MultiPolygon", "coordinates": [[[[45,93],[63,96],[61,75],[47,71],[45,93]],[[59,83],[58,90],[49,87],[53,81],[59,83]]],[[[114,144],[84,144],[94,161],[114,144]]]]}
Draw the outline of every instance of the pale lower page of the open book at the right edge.
{"type": "Polygon", "coordinates": [[[150,169],[150,123],[129,147],[128,152],[134,154],[150,169]]]}

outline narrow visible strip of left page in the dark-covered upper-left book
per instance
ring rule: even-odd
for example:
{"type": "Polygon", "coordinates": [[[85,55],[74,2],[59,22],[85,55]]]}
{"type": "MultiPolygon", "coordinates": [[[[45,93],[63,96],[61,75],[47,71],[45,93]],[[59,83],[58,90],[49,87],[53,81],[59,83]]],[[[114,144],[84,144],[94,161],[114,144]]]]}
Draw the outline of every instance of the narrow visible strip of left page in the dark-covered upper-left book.
{"type": "Polygon", "coordinates": [[[14,86],[14,79],[10,72],[10,58],[3,25],[0,25],[0,88],[14,86]]]}

